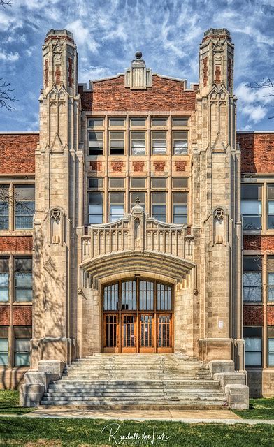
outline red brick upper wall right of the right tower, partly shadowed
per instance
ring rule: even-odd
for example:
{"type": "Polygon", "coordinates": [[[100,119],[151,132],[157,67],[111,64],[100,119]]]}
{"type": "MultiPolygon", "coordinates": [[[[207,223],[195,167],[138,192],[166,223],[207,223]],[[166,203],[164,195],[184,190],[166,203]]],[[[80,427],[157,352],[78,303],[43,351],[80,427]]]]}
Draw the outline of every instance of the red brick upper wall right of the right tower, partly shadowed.
{"type": "Polygon", "coordinates": [[[274,133],[238,133],[243,173],[274,173],[274,133]]]}

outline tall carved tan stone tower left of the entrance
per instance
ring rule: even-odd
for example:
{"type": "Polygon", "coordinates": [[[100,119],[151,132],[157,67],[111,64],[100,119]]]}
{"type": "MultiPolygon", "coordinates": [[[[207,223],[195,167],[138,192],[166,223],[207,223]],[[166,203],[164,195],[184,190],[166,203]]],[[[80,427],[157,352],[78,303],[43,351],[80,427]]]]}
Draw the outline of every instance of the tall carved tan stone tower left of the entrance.
{"type": "Polygon", "coordinates": [[[43,45],[36,150],[32,369],[38,360],[70,361],[75,351],[75,227],[83,224],[78,200],[83,179],[77,61],[72,34],[50,30],[43,45]]]}

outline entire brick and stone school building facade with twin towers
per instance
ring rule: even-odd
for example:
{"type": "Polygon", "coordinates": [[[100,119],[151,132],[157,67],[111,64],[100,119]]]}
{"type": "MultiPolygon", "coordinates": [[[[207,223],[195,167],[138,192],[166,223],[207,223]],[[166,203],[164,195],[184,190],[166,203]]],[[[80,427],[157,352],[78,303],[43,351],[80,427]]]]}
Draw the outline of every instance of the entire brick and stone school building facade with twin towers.
{"type": "Polygon", "coordinates": [[[229,31],[199,61],[190,88],[136,53],[87,89],[48,32],[40,130],[0,134],[3,388],[41,360],[183,352],[273,395],[274,134],[236,134],[229,31]]]}

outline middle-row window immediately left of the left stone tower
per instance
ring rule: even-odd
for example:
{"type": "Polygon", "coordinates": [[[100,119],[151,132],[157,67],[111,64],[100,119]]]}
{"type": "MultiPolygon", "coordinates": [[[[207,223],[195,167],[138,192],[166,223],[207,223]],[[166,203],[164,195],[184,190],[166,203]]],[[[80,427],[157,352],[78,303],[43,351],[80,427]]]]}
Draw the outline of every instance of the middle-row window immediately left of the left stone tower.
{"type": "Polygon", "coordinates": [[[29,256],[14,260],[14,293],[17,302],[32,300],[32,258],[29,256]]]}

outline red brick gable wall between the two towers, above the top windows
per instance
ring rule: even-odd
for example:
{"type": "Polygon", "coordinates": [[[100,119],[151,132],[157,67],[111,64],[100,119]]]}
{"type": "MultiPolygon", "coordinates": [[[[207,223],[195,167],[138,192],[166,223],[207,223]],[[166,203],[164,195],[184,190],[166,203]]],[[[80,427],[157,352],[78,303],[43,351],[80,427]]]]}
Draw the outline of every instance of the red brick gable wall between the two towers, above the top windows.
{"type": "Polygon", "coordinates": [[[184,91],[183,82],[152,76],[152,88],[130,90],[124,75],[93,83],[93,91],[79,88],[83,110],[195,110],[196,91],[184,91]]]}

